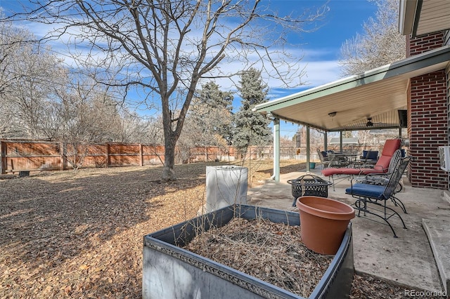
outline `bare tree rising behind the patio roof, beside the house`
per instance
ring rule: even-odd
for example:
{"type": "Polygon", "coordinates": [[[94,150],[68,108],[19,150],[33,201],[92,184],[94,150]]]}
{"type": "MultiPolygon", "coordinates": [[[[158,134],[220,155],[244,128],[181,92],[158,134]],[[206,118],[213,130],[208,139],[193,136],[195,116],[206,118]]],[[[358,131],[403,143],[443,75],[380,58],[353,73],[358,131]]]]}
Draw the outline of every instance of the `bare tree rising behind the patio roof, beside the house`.
{"type": "Polygon", "coordinates": [[[342,77],[359,74],[401,60],[406,55],[406,40],[398,29],[399,1],[373,0],[378,6],[375,19],[364,23],[363,34],[347,39],[341,47],[342,77]]]}

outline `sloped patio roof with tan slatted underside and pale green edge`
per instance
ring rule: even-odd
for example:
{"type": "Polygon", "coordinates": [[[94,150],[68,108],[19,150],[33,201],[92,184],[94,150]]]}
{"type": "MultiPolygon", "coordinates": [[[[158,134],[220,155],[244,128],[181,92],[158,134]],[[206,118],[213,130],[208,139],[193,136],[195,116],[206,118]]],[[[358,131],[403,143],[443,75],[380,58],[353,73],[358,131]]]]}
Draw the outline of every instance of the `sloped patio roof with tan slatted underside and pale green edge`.
{"type": "Polygon", "coordinates": [[[307,91],[257,105],[255,110],[323,131],[399,128],[398,109],[406,109],[409,81],[450,62],[450,46],[371,69],[307,91]],[[336,112],[334,117],[330,113],[336,112]]]}

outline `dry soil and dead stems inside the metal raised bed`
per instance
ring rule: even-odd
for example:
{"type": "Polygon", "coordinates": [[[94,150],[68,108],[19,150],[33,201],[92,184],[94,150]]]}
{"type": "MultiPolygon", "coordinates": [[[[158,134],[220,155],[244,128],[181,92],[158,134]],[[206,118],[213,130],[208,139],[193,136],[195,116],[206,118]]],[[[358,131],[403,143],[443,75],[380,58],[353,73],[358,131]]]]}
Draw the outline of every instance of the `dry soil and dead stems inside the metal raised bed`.
{"type": "Polygon", "coordinates": [[[309,297],[334,255],[320,255],[302,243],[300,226],[233,218],[195,237],[188,251],[309,297]]]}

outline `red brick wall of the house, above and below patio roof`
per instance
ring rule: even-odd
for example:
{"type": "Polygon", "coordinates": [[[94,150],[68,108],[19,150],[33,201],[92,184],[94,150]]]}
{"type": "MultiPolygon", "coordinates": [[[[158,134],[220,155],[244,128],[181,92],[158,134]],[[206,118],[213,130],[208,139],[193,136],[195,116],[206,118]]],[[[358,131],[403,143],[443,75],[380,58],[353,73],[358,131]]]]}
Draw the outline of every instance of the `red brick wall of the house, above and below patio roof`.
{"type": "MultiPolygon", "coordinates": [[[[437,32],[407,42],[413,56],[444,46],[446,35],[437,32]]],[[[449,174],[439,164],[438,147],[449,145],[448,69],[411,78],[408,97],[409,180],[413,187],[449,189],[449,174]]]]}

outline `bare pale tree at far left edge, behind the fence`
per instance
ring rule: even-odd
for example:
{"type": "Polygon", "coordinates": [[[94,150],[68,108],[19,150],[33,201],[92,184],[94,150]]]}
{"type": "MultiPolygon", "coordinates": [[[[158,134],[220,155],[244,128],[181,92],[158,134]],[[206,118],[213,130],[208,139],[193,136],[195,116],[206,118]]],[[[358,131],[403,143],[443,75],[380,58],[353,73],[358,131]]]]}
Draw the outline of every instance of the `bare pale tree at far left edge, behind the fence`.
{"type": "Polygon", "coordinates": [[[42,138],[49,93],[63,86],[60,60],[26,29],[0,22],[0,136],[42,138]]]}

